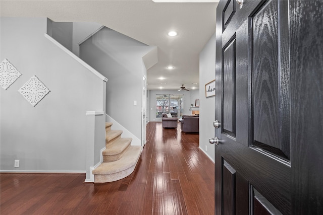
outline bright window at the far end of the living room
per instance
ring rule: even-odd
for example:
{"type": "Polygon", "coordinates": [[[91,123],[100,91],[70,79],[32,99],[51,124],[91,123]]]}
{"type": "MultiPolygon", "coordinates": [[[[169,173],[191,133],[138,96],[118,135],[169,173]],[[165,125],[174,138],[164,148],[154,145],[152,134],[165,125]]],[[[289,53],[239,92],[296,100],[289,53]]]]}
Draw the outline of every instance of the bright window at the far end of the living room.
{"type": "Polygon", "coordinates": [[[170,113],[173,117],[183,116],[184,95],[156,94],[156,118],[162,113],[170,113]]]}

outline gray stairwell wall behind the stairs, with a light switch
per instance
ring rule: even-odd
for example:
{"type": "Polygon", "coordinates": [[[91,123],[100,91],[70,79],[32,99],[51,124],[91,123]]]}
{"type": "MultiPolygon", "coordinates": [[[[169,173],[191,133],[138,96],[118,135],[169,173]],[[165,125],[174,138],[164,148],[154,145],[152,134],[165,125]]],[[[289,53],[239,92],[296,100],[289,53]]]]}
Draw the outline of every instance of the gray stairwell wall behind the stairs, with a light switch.
{"type": "Polygon", "coordinates": [[[141,138],[142,57],[152,47],[109,28],[80,44],[80,57],[109,79],[106,114],[141,138]],[[137,105],[134,105],[137,101],[137,105]]]}

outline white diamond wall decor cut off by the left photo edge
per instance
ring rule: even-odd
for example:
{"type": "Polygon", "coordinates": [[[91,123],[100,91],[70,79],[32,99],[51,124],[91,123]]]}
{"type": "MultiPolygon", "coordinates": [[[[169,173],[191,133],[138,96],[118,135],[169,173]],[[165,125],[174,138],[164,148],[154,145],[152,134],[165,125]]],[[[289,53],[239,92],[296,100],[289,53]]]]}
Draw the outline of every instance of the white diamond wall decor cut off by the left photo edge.
{"type": "Polygon", "coordinates": [[[0,64],[1,87],[7,90],[22,74],[6,58],[0,64]]]}

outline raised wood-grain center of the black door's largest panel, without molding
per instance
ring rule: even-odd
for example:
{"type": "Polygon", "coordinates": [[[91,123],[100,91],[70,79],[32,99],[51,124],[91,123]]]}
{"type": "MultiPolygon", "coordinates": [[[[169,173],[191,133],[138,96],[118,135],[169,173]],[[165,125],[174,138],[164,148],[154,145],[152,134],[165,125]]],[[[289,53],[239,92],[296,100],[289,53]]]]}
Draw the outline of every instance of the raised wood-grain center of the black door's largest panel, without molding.
{"type": "Polygon", "coordinates": [[[254,145],[279,148],[277,1],[261,7],[251,20],[253,42],[254,145]]]}

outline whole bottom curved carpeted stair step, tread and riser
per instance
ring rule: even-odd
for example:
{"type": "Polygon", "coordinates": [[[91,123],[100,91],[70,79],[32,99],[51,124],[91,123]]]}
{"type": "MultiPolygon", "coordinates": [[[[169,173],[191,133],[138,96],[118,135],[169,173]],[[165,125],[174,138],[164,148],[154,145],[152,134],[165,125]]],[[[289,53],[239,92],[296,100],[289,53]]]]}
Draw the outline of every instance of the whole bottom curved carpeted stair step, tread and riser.
{"type": "Polygon", "coordinates": [[[94,183],[117,181],[130,175],[136,167],[141,151],[141,146],[131,146],[118,161],[101,163],[92,171],[94,183]]]}

